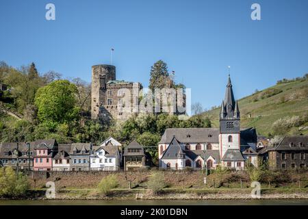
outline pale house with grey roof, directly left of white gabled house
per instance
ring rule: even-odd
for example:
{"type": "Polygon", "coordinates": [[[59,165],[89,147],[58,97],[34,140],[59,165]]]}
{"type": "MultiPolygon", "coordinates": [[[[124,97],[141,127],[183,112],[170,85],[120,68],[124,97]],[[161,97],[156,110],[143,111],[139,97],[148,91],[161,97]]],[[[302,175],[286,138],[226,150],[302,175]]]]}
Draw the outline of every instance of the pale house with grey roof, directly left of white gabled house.
{"type": "Polygon", "coordinates": [[[92,143],[73,143],[70,145],[71,170],[90,170],[92,143]]]}

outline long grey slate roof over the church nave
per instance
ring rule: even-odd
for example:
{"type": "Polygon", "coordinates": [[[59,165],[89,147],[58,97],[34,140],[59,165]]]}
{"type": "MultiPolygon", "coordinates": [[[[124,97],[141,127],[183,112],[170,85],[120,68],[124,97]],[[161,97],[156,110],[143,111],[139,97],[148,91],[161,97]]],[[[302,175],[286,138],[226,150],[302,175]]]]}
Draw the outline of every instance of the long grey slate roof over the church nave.
{"type": "Polygon", "coordinates": [[[166,129],[159,144],[169,144],[173,136],[182,143],[218,143],[219,129],[216,128],[175,128],[166,129]]]}

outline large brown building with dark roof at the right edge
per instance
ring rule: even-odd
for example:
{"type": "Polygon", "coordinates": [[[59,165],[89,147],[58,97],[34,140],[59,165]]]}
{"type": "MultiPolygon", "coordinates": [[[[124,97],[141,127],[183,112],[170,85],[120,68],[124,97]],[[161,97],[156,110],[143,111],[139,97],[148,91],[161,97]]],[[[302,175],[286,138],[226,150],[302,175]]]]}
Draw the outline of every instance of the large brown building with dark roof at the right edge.
{"type": "Polygon", "coordinates": [[[260,157],[268,162],[270,168],[306,168],[308,164],[308,135],[285,136],[278,143],[264,147],[260,157]]]}

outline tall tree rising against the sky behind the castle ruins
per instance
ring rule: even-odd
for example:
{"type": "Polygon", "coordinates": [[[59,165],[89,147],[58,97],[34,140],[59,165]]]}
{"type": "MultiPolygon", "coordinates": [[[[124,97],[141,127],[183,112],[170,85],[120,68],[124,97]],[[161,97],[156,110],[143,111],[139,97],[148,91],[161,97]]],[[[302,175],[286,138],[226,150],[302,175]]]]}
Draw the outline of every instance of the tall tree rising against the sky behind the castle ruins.
{"type": "Polygon", "coordinates": [[[171,88],[173,83],[169,78],[168,66],[166,62],[159,60],[151,67],[149,88],[154,90],[155,88],[171,88]]]}

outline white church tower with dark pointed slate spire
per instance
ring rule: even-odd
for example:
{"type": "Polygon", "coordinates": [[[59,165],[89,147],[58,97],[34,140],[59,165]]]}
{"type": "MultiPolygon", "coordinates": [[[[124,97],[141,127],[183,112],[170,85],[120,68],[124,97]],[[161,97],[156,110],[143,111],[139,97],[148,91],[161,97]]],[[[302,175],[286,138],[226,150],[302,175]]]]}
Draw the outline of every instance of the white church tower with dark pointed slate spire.
{"type": "Polygon", "coordinates": [[[220,108],[219,122],[219,150],[220,157],[223,157],[228,149],[240,150],[240,110],[238,101],[234,99],[230,75],[220,108]]]}

